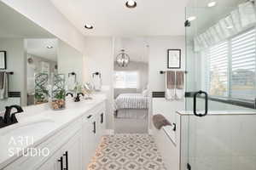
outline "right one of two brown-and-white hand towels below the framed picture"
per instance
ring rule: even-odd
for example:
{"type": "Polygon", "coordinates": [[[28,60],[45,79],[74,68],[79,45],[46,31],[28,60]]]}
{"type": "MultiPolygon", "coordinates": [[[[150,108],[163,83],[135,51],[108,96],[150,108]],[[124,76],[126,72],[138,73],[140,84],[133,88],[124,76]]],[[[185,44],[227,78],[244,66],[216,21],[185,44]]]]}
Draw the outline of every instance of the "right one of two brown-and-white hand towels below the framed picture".
{"type": "Polygon", "coordinates": [[[184,71],[176,71],[176,99],[184,97],[184,71]]]}

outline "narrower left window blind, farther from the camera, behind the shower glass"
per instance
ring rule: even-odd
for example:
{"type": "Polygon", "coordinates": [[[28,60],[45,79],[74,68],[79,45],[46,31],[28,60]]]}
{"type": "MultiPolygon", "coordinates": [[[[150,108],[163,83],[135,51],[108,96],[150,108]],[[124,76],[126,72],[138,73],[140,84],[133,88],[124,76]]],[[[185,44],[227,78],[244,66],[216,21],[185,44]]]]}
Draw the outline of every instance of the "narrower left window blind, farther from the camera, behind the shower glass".
{"type": "Polygon", "coordinates": [[[226,97],[228,91],[229,43],[221,42],[209,49],[208,93],[226,97]]]}

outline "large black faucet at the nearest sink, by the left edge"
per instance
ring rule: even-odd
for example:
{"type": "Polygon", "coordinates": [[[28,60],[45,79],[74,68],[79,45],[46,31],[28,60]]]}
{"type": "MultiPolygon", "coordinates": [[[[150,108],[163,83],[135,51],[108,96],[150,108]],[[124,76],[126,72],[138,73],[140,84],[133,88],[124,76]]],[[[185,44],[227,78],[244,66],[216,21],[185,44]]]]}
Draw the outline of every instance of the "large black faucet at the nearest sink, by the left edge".
{"type": "Polygon", "coordinates": [[[22,108],[20,107],[20,105],[10,105],[10,106],[6,106],[5,107],[5,113],[4,116],[0,117],[0,128],[1,127],[7,127],[9,125],[15,124],[17,123],[17,118],[16,118],[16,114],[17,113],[21,113],[23,112],[22,108]],[[12,109],[15,108],[16,112],[11,113],[12,109]]]}

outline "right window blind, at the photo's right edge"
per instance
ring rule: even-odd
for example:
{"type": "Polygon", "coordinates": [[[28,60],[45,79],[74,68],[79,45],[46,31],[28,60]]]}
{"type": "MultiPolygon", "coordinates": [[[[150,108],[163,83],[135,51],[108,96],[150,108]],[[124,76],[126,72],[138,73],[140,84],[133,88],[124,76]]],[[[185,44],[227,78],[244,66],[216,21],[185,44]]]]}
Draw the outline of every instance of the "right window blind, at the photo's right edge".
{"type": "Polygon", "coordinates": [[[230,97],[256,98],[256,30],[231,39],[230,97]]]}

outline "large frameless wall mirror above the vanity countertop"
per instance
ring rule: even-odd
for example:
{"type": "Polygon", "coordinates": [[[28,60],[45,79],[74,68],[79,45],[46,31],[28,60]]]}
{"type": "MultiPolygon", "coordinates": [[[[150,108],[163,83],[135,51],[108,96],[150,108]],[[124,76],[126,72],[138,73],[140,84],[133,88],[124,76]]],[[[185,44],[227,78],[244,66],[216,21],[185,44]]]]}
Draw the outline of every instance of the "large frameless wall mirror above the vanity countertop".
{"type": "Polygon", "coordinates": [[[37,93],[37,89],[47,90],[53,74],[65,76],[67,90],[82,82],[83,54],[78,50],[3,3],[0,3],[0,23],[4,67],[0,70],[1,112],[7,105],[48,102],[48,96],[37,93]]]}

